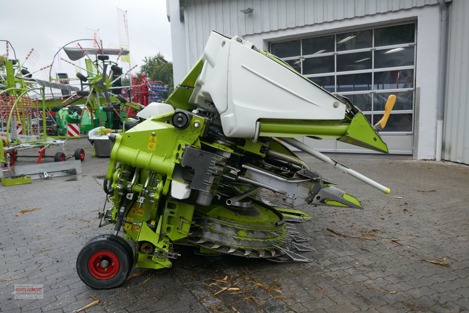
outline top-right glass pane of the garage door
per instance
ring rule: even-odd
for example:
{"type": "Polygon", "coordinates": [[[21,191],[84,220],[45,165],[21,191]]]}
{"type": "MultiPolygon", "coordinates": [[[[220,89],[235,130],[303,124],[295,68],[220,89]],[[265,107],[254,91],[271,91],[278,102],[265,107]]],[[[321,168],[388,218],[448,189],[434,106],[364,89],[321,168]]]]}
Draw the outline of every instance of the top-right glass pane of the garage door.
{"type": "Polygon", "coordinates": [[[375,29],[375,47],[415,42],[415,24],[396,25],[375,29]]]}

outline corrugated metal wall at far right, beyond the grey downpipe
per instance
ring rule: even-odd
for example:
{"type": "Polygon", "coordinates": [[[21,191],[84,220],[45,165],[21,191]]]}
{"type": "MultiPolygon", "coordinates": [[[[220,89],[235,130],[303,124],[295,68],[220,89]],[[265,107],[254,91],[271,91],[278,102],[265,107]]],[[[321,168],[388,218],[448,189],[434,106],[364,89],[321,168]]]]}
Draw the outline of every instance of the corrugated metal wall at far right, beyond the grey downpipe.
{"type": "Polygon", "coordinates": [[[443,159],[469,164],[469,1],[453,0],[449,14],[443,159]]]}

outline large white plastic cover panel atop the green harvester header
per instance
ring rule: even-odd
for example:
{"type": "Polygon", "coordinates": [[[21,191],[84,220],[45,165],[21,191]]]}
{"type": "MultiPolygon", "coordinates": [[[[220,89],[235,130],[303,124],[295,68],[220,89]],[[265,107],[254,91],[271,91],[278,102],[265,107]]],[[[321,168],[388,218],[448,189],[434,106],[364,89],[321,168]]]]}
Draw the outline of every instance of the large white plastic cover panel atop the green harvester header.
{"type": "Polygon", "coordinates": [[[230,39],[212,32],[189,99],[201,109],[218,112],[226,136],[255,137],[256,122],[264,118],[344,118],[343,102],[252,47],[238,36],[230,39]]]}

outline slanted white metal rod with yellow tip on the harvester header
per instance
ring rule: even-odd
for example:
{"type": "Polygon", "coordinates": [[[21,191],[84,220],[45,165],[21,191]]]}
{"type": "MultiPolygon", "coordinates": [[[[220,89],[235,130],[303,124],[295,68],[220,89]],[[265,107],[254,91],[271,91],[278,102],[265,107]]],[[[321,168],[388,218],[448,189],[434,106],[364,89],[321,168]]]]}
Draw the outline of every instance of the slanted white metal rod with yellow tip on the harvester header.
{"type": "Polygon", "coordinates": [[[328,156],[314,150],[310,146],[303,144],[301,141],[298,141],[295,138],[281,137],[279,139],[282,140],[282,141],[285,141],[289,145],[293,145],[295,148],[298,148],[301,151],[303,151],[305,153],[308,153],[311,156],[313,156],[313,157],[315,157],[315,158],[317,158],[317,159],[319,159],[319,160],[321,160],[321,161],[323,161],[323,162],[325,162],[329,165],[332,165],[334,168],[340,169],[342,172],[347,173],[348,175],[353,176],[356,179],[361,180],[363,183],[367,183],[371,187],[375,187],[379,191],[383,191],[386,194],[391,192],[391,190],[389,188],[383,186],[382,184],[375,182],[374,180],[372,180],[372,179],[370,179],[370,178],[368,178],[368,177],[354,171],[351,168],[346,167],[343,164],[340,164],[336,160],[333,160],[333,159],[329,158],[328,156]]]}

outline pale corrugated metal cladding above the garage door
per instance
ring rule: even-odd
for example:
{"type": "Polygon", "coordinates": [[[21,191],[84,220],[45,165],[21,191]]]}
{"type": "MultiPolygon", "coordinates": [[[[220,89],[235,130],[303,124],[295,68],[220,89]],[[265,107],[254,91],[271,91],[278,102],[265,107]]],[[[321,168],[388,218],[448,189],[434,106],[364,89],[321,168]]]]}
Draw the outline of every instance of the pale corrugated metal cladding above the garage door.
{"type": "Polygon", "coordinates": [[[184,0],[188,61],[195,64],[212,30],[244,36],[437,3],[438,0],[184,0]],[[253,8],[254,13],[240,12],[245,8],[253,8]]]}

